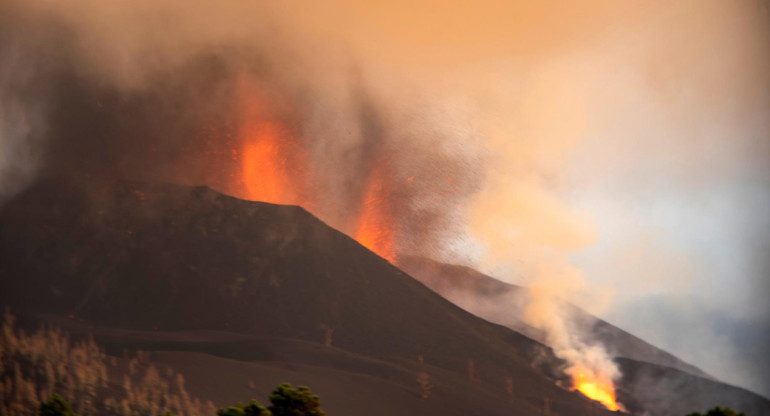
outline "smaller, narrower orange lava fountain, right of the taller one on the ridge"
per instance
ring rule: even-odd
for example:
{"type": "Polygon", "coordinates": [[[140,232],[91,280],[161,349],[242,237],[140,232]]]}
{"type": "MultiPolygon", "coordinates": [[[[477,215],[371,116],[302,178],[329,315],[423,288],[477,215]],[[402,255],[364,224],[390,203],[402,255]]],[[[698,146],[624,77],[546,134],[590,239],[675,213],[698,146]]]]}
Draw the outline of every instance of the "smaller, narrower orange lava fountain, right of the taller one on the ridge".
{"type": "Polygon", "coordinates": [[[355,239],[390,262],[396,260],[395,230],[383,180],[374,172],[364,196],[355,239]]]}

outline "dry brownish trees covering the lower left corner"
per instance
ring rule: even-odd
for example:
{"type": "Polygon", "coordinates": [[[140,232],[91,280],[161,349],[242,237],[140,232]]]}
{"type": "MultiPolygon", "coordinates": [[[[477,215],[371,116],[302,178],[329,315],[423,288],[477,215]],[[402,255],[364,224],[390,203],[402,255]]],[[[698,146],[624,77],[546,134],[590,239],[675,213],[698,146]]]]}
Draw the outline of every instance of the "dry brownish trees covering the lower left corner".
{"type": "Polygon", "coordinates": [[[46,326],[28,334],[15,323],[6,311],[0,334],[1,415],[34,415],[40,402],[53,393],[82,416],[216,413],[211,402],[190,397],[181,374],[171,369],[161,373],[141,351],[129,360],[122,386],[110,388],[108,371],[121,370],[108,365],[107,356],[93,339],[75,341],[46,326]]]}

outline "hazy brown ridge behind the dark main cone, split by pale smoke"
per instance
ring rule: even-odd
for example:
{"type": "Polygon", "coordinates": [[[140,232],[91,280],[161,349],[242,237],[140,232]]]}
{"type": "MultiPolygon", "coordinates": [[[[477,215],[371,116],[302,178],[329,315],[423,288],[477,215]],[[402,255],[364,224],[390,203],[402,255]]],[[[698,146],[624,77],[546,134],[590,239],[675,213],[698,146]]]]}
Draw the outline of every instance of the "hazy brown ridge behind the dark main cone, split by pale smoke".
{"type": "MultiPolygon", "coordinates": [[[[529,296],[526,288],[502,282],[469,267],[439,263],[422,257],[399,259],[399,267],[474,315],[505,325],[545,343],[542,332],[521,320],[529,296]]],[[[701,369],[576,306],[565,307],[571,312],[571,322],[577,335],[585,342],[604,345],[607,352],[613,356],[645,361],[711,378],[701,369]]]]}

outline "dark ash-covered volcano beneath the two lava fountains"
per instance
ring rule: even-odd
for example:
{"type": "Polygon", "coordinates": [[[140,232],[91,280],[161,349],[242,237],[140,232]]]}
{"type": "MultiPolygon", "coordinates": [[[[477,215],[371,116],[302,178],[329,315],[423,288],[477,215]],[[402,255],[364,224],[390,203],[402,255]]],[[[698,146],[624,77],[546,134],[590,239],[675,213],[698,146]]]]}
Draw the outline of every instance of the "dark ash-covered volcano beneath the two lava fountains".
{"type": "MultiPolygon", "coordinates": [[[[220,406],[290,381],[311,385],[330,415],[611,413],[559,386],[563,363],[536,334],[460,308],[297,206],[47,179],[0,208],[0,253],[4,305],[114,356],[150,351],[220,406]]],[[[618,393],[635,413],[770,414],[770,401],[673,356],[626,356],[618,393]],[[653,402],[643,392],[660,380],[673,384],[653,402]]]]}

